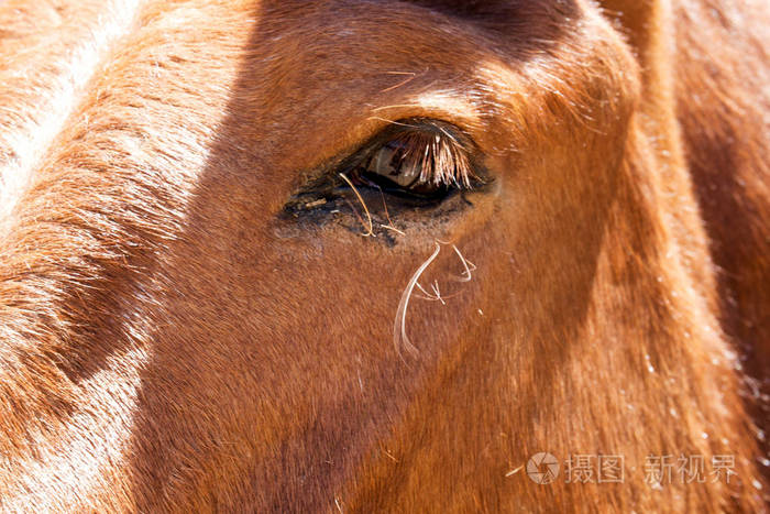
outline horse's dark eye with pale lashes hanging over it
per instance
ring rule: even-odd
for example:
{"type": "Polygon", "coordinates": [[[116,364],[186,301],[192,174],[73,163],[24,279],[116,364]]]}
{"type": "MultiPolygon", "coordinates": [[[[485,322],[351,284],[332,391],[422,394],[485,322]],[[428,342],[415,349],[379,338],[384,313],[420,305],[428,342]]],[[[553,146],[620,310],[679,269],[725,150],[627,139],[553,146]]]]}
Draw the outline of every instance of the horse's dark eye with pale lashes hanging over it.
{"type": "Polygon", "coordinates": [[[375,146],[354,168],[354,182],[416,196],[470,189],[477,177],[469,160],[469,143],[442,124],[410,125],[375,146]]]}

